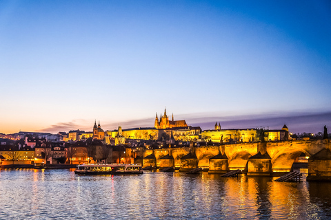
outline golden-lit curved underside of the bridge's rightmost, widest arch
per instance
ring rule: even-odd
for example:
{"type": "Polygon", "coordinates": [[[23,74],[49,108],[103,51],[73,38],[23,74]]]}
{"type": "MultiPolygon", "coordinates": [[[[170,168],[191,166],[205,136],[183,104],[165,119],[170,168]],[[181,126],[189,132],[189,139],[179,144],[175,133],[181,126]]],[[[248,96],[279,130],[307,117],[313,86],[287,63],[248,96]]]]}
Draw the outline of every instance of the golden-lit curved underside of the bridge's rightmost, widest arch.
{"type": "Polygon", "coordinates": [[[299,157],[301,153],[304,153],[310,157],[310,153],[303,148],[291,147],[284,148],[279,151],[274,157],[272,157],[272,171],[273,172],[288,172],[291,170],[294,160],[299,157]]]}

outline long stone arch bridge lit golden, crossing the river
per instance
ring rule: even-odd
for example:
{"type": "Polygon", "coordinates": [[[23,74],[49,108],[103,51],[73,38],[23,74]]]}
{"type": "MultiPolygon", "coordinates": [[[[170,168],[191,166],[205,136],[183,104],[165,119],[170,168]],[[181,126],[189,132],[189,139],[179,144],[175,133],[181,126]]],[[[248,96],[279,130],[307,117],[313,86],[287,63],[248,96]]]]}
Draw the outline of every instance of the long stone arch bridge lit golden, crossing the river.
{"type": "Polygon", "coordinates": [[[308,158],[308,179],[331,179],[331,144],[326,140],[290,140],[160,148],[143,151],[143,167],[175,167],[180,171],[208,169],[209,173],[245,170],[247,175],[289,172],[302,155],[308,158]]]}

